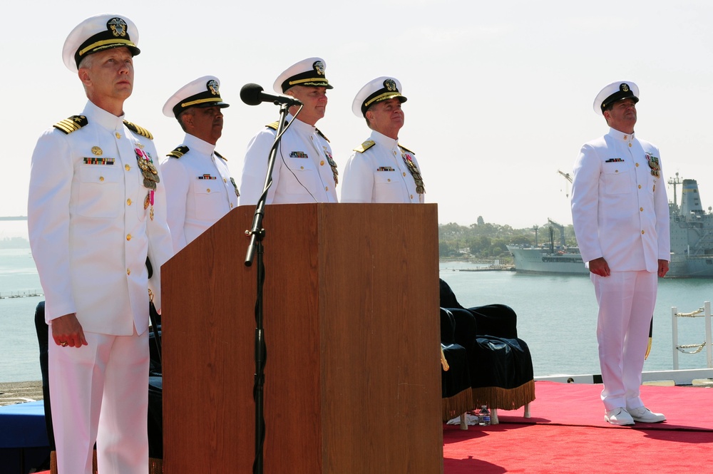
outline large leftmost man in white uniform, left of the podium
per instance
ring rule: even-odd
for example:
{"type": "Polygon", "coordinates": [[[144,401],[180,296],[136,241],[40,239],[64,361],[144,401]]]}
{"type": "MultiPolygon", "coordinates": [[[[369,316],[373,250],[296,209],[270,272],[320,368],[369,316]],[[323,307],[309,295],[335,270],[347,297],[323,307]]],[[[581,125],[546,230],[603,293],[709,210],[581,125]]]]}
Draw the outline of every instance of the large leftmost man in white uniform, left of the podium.
{"type": "Polygon", "coordinates": [[[32,155],[28,227],[50,326],[59,474],[90,474],[95,441],[100,473],[148,472],[149,291],[160,309],[172,246],[153,137],[124,120],[137,45],[121,15],[71,31],[63,60],[88,102],[32,155]]]}

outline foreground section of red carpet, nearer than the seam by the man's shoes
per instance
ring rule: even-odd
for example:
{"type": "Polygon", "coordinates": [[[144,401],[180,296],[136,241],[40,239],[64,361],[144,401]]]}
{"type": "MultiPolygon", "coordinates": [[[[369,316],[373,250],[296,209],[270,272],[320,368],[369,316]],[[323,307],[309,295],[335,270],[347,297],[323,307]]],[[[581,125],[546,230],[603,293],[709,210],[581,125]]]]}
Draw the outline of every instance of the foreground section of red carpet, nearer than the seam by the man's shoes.
{"type": "Polygon", "coordinates": [[[443,472],[707,472],[713,432],[501,424],[443,431],[443,472]]]}

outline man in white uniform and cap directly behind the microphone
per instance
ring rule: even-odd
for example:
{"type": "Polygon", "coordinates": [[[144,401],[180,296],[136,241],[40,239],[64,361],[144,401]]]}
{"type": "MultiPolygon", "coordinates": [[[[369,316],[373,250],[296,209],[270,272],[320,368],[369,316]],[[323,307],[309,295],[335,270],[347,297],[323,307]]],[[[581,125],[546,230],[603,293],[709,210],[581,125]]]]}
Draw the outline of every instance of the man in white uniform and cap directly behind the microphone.
{"type": "MultiPolygon", "coordinates": [[[[272,186],[265,204],[337,202],[337,163],[329,140],[315,124],[327,110],[326,65],[322,58],[307,58],[289,66],[275,80],[273,88],[302,102],[302,111],[282,135],[272,186]]],[[[289,108],[287,122],[297,107],[289,108]]],[[[240,180],[240,204],[257,204],[265,186],[267,158],[275,142],[277,122],[266,125],[250,140],[240,180]]]]}

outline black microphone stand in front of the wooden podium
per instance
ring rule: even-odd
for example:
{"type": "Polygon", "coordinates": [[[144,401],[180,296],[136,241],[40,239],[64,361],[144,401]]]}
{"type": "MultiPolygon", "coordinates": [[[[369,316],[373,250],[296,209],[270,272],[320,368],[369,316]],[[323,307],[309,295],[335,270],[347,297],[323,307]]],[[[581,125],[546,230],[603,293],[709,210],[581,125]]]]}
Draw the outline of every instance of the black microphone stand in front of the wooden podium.
{"type": "MultiPolygon", "coordinates": [[[[277,103],[277,102],[275,102],[277,103]]],[[[267,348],[265,346],[265,330],[263,329],[262,299],[263,284],[265,283],[265,263],[263,262],[264,247],[262,239],[265,238],[265,229],[262,228],[262,218],[265,217],[265,200],[267,191],[272,185],[272,170],[275,168],[275,158],[277,147],[282,133],[287,130],[284,125],[287,119],[289,105],[281,104],[279,107],[279,122],[277,123],[277,134],[275,142],[270,148],[270,158],[267,160],[267,175],[265,176],[265,186],[260,199],[257,200],[255,215],[252,218],[252,229],[246,230],[245,235],[250,236],[250,245],[247,247],[245,255],[245,266],[252,265],[252,259],[257,252],[257,301],[255,302],[255,382],[252,388],[252,398],[255,400],[255,461],[252,464],[252,472],[262,474],[263,465],[263,443],[265,442],[265,416],[264,416],[264,393],[265,386],[265,359],[267,358],[267,348]]],[[[302,108],[300,108],[302,110],[302,108]]],[[[299,110],[294,115],[297,116],[299,110]]],[[[294,118],[293,118],[294,120],[294,118]]],[[[289,124],[287,125],[289,126],[289,124]]]]}

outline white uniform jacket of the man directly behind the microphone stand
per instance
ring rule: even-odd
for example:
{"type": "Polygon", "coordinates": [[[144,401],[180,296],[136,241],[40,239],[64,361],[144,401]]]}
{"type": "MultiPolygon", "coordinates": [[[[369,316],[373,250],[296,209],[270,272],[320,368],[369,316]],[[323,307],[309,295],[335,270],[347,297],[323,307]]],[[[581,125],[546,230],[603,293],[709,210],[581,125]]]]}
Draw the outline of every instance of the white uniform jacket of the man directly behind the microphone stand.
{"type": "MultiPolygon", "coordinates": [[[[287,122],[290,120],[292,115],[287,115],[287,122]]],[[[240,180],[241,205],[255,205],[262,195],[276,133],[268,126],[247,145],[240,180]]],[[[294,120],[280,140],[265,203],[337,202],[336,170],[327,138],[314,125],[294,120]]]]}

